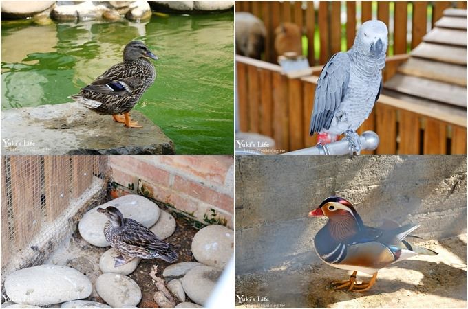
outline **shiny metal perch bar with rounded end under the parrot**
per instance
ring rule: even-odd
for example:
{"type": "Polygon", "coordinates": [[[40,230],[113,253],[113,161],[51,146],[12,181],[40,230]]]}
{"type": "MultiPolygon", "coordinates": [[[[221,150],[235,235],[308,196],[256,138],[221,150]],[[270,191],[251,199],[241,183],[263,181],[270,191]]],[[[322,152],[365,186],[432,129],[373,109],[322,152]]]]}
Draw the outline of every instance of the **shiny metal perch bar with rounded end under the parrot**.
{"type": "MultiPolygon", "coordinates": [[[[375,150],[379,146],[379,135],[373,131],[365,131],[360,137],[361,150],[375,150]]],[[[341,141],[334,143],[304,148],[291,152],[286,152],[283,155],[352,155],[352,149],[348,139],[344,138],[341,141]]]]}

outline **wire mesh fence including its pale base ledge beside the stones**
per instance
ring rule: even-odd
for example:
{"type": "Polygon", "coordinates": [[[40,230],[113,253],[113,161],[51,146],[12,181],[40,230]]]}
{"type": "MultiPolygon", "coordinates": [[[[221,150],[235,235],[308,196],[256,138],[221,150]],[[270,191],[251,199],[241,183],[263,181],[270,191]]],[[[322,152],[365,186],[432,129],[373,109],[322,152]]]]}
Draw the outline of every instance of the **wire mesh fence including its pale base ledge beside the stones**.
{"type": "Polygon", "coordinates": [[[107,156],[1,156],[1,271],[34,266],[105,198],[107,156]]]}

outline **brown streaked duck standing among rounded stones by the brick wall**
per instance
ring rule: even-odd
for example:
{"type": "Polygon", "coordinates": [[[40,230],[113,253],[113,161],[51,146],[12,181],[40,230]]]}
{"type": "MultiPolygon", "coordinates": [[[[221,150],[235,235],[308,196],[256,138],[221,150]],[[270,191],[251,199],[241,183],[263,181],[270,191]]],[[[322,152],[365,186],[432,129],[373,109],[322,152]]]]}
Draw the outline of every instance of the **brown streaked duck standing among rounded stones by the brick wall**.
{"type": "Polygon", "coordinates": [[[104,226],[105,239],[121,254],[114,258],[115,267],[127,264],[133,258],[160,258],[169,263],[178,259],[171,244],[160,240],[136,220],[123,218],[116,207],[98,208],[98,212],[109,218],[104,226]]]}

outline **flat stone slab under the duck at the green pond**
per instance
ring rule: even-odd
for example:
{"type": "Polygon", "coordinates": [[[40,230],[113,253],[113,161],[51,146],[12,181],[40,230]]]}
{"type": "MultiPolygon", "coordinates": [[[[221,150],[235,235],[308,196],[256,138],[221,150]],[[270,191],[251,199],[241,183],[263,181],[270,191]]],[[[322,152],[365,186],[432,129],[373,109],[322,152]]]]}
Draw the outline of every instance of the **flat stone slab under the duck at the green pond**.
{"type": "Polygon", "coordinates": [[[110,115],[77,103],[1,111],[2,155],[173,154],[175,147],[145,115],[131,111],[143,128],[125,128],[110,115]]]}

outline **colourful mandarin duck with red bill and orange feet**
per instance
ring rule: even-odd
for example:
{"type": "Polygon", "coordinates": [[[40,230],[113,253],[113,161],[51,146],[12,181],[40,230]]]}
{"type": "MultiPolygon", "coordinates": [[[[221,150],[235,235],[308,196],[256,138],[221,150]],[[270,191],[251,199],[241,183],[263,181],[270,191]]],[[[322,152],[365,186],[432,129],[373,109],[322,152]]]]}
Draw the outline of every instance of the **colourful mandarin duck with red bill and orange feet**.
{"type": "Polygon", "coordinates": [[[338,196],[326,198],[308,216],[328,217],[328,222],[314,238],[319,258],[330,266],[353,272],[349,280],[332,282],[335,289],[364,292],[375,284],[381,268],[418,254],[437,254],[405,240],[417,237],[409,233],[419,225],[400,227],[393,220],[385,220],[380,228],[365,226],[351,203],[338,196]],[[357,284],[358,271],[372,275],[370,282],[357,284]]]}

